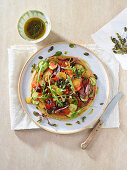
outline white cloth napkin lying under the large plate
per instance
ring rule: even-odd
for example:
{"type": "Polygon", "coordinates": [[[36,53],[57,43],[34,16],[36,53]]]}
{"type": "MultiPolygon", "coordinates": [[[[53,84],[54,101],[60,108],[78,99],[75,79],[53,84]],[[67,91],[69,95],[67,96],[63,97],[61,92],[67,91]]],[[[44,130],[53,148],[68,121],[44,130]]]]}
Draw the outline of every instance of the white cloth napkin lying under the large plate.
{"type": "MultiPolygon", "coordinates": [[[[119,84],[119,64],[117,61],[107,54],[104,50],[98,48],[96,45],[84,45],[94,51],[97,56],[107,66],[110,80],[111,80],[111,95],[112,98],[118,92],[119,84]]],[[[12,46],[8,49],[9,57],[9,98],[10,98],[10,118],[11,129],[35,129],[39,128],[34,122],[32,122],[26,113],[23,112],[18,98],[18,79],[21,69],[26,60],[37,51],[35,46],[12,46]]],[[[119,127],[119,109],[118,104],[115,106],[112,114],[108,118],[107,122],[103,125],[104,128],[119,127]]]]}

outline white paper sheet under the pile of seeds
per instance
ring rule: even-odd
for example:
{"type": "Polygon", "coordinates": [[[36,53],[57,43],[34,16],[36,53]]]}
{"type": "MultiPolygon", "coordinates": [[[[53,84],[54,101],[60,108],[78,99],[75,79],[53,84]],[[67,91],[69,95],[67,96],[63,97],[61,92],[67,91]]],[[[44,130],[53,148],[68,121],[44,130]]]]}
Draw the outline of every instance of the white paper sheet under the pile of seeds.
{"type": "Polygon", "coordinates": [[[104,25],[100,30],[96,33],[92,34],[91,37],[93,38],[94,42],[110,53],[111,55],[115,56],[118,62],[121,64],[121,67],[124,70],[127,70],[127,54],[115,54],[112,51],[114,47],[114,43],[111,41],[111,36],[117,38],[116,33],[119,33],[122,38],[127,37],[127,32],[124,32],[124,27],[127,27],[127,8],[124,9],[119,15],[117,15],[114,19],[112,19],[109,23],[104,25]]]}

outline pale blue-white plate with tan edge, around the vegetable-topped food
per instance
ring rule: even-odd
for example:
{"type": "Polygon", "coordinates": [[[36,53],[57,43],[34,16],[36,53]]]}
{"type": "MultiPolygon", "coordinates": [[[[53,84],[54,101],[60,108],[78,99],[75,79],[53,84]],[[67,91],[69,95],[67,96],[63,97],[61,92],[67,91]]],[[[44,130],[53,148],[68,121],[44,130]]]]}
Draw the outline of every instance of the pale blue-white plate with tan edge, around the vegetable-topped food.
{"type": "Polygon", "coordinates": [[[26,64],[24,65],[21,71],[20,78],[19,78],[19,98],[24,112],[27,113],[30,119],[34,121],[39,127],[48,130],[50,132],[59,133],[59,134],[76,133],[94,124],[102,115],[107,105],[108,98],[109,98],[109,91],[110,91],[109,76],[102,61],[89,49],[74,43],[73,43],[74,47],[70,48],[69,44],[70,43],[66,43],[66,42],[54,43],[41,48],[26,62],[26,64]],[[54,46],[53,51],[48,52],[48,49],[52,45],[54,46]],[[38,62],[40,61],[38,56],[43,56],[45,59],[47,57],[54,55],[57,51],[61,51],[63,54],[65,51],[67,51],[68,52],[66,54],[67,56],[74,56],[74,57],[82,58],[85,61],[87,61],[87,63],[89,63],[90,65],[90,69],[92,70],[92,72],[98,76],[97,86],[99,87],[99,91],[98,94],[95,96],[95,102],[92,104],[92,107],[90,107],[80,117],[68,121],[59,121],[59,120],[49,118],[51,123],[55,123],[58,125],[57,127],[54,127],[54,126],[50,126],[47,123],[46,119],[39,124],[37,122],[38,117],[33,115],[33,111],[37,111],[37,112],[39,111],[36,109],[35,105],[26,104],[25,98],[30,96],[31,66],[34,63],[38,64],[38,62]],[[84,52],[88,52],[89,56],[85,56],[84,52]],[[104,103],[104,104],[100,105],[100,103],[104,103]],[[93,109],[93,113],[89,115],[88,113],[91,111],[91,109],[93,109]],[[82,122],[83,116],[86,116],[84,122],[82,122]],[[80,124],[76,123],[77,120],[80,121],[80,124]],[[71,123],[72,125],[68,126],[66,125],[66,123],[71,123]]]}

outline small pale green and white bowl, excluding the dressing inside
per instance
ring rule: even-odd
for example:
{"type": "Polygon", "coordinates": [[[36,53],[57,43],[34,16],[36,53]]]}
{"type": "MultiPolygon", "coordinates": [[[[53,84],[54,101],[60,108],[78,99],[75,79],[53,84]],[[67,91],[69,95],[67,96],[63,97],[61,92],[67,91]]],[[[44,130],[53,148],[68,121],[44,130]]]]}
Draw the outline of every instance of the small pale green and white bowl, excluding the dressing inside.
{"type": "Polygon", "coordinates": [[[40,12],[37,10],[29,10],[29,11],[25,12],[20,17],[20,19],[18,21],[17,28],[18,28],[18,32],[19,32],[20,36],[23,39],[28,40],[29,42],[32,42],[32,43],[38,43],[38,42],[44,40],[50,33],[51,22],[50,22],[49,17],[46,14],[44,14],[43,12],[40,12]],[[25,25],[26,21],[30,18],[40,18],[41,20],[43,20],[45,22],[45,26],[46,26],[45,34],[39,39],[36,39],[36,40],[31,39],[31,38],[27,37],[27,35],[24,32],[24,25],[25,25]]]}

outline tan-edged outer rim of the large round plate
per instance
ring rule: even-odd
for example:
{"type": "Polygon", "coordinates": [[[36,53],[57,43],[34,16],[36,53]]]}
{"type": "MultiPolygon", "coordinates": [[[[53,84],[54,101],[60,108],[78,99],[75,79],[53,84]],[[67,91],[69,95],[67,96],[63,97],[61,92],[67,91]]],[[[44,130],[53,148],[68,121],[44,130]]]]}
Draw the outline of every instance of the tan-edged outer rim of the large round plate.
{"type": "Polygon", "coordinates": [[[21,69],[20,75],[19,75],[19,80],[18,80],[18,96],[19,96],[19,101],[20,101],[20,104],[21,104],[21,106],[22,106],[23,111],[24,111],[24,112],[28,115],[28,117],[29,117],[38,127],[40,127],[41,129],[44,129],[44,130],[46,130],[46,131],[48,131],[48,132],[55,133],[55,134],[74,134],[74,133],[78,133],[78,132],[81,132],[81,131],[83,131],[83,130],[85,130],[85,129],[88,129],[89,127],[91,127],[92,125],[94,125],[94,124],[99,120],[99,118],[102,116],[102,114],[104,113],[104,110],[105,110],[105,108],[106,108],[107,105],[108,105],[108,101],[109,101],[109,97],[110,97],[110,78],[109,78],[109,73],[108,73],[108,71],[107,71],[106,66],[105,66],[104,63],[101,61],[101,59],[100,59],[92,50],[90,50],[89,48],[87,48],[87,47],[85,47],[85,46],[83,46],[83,45],[81,45],[81,44],[79,44],[79,43],[74,43],[74,42],[70,42],[70,41],[50,43],[50,44],[44,45],[44,46],[41,47],[39,50],[37,50],[37,51],[36,51],[34,54],[32,54],[32,56],[30,56],[30,57],[27,59],[27,61],[25,62],[23,68],[21,69]],[[105,70],[105,72],[106,72],[106,74],[107,74],[107,78],[108,78],[109,91],[108,91],[108,98],[107,98],[107,101],[106,101],[106,104],[105,104],[104,109],[102,110],[102,112],[100,113],[100,115],[99,115],[93,122],[91,122],[89,125],[87,125],[86,127],[82,128],[82,129],[80,129],[80,130],[75,130],[75,131],[72,131],[72,132],[57,132],[57,131],[49,130],[49,129],[45,128],[45,127],[42,127],[38,122],[36,122],[35,120],[33,120],[32,117],[30,116],[30,114],[26,111],[26,109],[25,109],[25,107],[24,107],[24,104],[23,104],[23,102],[22,102],[22,97],[21,97],[21,88],[20,88],[20,87],[21,87],[21,80],[22,80],[22,75],[23,75],[23,72],[24,72],[27,64],[29,63],[29,61],[30,61],[39,51],[41,51],[42,49],[44,49],[44,48],[46,48],[46,47],[48,47],[48,46],[55,45],[55,44],[74,44],[74,45],[77,45],[77,46],[80,46],[80,47],[82,47],[82,48],[87,49],[88,51],[90,51],[90,52],[101,62],[102,66],[103,66],[103,68],[104,68],[104,70],[105,70]]]}

